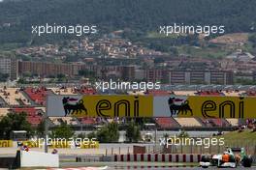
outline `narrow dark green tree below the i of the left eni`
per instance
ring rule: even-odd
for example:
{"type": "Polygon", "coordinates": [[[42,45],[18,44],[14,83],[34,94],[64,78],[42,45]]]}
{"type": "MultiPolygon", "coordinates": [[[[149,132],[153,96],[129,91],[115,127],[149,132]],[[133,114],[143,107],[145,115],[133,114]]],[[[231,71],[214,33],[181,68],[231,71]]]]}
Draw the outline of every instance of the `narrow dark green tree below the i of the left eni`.
{"type": "Polygon", "coordinates": [[[137,126],[133,121],[130,122],[126,128],[125,136],[127,142],[139,142],[141,140],[140,126],[137,126]]]}

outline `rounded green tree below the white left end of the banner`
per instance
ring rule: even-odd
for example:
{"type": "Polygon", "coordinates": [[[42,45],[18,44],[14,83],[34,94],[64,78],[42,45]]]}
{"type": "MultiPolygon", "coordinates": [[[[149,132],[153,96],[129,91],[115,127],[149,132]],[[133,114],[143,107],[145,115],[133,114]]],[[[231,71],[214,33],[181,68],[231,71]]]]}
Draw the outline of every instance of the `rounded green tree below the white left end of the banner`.
{"type": "Polygon", "coordinates": [[[51,138],[64,138],[69,139],[75,134],[74,130],[70,128],[66,123],[62,123],[59,127],[54,128],[51,133],[51,138]]]}

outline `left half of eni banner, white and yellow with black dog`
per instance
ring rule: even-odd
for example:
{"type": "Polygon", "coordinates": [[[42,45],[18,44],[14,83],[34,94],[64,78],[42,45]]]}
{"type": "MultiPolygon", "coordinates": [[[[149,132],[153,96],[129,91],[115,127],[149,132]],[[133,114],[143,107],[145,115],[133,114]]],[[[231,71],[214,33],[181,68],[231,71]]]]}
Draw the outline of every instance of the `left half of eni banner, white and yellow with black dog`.
{"type": "Polygon", "coordinates": [[[48,96],[48,116],[153,117],[152,96],[48,96]]]}

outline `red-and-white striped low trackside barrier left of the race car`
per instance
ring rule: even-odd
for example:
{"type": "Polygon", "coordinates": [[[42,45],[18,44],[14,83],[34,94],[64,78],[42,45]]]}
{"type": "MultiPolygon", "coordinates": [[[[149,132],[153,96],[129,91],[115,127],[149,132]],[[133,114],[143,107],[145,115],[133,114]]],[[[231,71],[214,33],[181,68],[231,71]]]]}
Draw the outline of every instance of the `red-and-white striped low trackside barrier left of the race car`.
{"type": "Polygon", "coordinates": [[[139,154],[114,155],[113,161],[199,162],[201,155],[139,154]]]}

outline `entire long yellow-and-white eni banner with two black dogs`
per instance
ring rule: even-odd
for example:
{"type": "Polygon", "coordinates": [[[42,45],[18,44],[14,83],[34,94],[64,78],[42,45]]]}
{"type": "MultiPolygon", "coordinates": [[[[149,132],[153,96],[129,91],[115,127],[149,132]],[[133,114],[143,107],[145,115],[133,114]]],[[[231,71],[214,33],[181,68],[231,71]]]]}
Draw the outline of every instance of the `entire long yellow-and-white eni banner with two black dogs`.
{"type": "Polygon", "coordinates": [[[48,116],[256,118],[256,98],[48,96],[48,116]]]}

